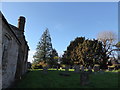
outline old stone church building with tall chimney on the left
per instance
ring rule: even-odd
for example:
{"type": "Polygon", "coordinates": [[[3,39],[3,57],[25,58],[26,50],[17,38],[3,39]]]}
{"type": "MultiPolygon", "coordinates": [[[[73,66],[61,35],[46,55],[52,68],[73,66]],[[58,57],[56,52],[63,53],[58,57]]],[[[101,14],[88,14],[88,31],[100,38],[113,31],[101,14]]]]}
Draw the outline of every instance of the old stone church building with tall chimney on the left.
{"type": "Polygon", "coordinates": [[[18,27],[7,22],[0,12],[2,31],[2,88],[7,88],[27,71],[29,46],[25,39],[25,17],[20,16],[18,27]]]}

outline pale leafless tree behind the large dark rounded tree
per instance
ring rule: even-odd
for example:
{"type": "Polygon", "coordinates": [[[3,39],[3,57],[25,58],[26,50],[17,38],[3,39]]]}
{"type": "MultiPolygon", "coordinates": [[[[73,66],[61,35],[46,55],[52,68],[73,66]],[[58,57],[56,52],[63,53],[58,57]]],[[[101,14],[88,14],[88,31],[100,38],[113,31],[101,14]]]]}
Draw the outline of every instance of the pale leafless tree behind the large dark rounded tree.
{"type": "Polygon", "coordinates": [[[106,54],[109,56],[113,51],[113,45],[115,45],[115,41],[117,40],[117,36],[112,31],[103,31],[98,33],[97,39],[103,43],[103,48],[106,54]]]}

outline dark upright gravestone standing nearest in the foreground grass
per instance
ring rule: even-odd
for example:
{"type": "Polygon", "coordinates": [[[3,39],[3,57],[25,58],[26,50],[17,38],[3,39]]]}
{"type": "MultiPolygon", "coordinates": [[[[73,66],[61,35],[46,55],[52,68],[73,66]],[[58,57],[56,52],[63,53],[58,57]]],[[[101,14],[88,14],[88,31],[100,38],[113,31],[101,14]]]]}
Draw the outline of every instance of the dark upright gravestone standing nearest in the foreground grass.
{"type": "Polygon", "coordinates": [[[85,86],[89,84],[89,73],[88,72],[81,72],[80,74],[80,85],[85,86]]]}

